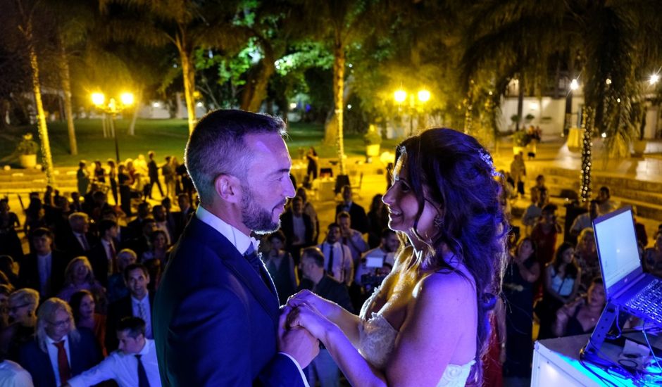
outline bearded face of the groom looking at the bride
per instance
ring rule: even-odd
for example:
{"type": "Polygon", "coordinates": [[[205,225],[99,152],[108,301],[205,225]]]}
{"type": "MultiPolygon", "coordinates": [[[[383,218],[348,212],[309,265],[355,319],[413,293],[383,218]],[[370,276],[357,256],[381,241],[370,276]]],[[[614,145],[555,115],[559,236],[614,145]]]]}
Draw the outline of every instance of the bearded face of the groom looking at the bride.
{"type": "Polygon", "coordinates": [[[280,227],[287,198],[294,196],[292,159],[279,134],[249,134],[244,141],[253,159],[242,182],[242,222],[257,234],[270,233],[280,227]]]}

